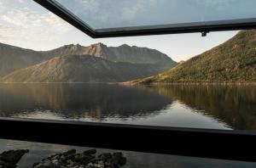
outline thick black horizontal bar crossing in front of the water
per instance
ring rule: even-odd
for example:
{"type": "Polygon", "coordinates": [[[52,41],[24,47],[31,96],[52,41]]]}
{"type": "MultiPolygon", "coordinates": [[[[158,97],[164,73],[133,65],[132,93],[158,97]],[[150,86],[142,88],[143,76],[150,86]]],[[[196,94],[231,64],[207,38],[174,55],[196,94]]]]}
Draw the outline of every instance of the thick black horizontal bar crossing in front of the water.
{"type": "Polygon", "coordinates": [[[256,132],[0,118],[0,138],[256,162],[256,132]]]}

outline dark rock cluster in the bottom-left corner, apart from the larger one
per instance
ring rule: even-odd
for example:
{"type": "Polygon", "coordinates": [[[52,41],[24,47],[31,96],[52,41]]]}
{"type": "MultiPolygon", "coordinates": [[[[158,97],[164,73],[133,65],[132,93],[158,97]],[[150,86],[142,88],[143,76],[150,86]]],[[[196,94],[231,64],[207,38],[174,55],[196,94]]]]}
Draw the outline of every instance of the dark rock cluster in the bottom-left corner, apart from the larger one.
{"type": "Polygon", "coordinates": [[[0,165],[3,168],[16,167],[16,164],[20,161],[22,156],[28,152],[29,150],[24,149],[4,151],[0,154],[0,165]]]}

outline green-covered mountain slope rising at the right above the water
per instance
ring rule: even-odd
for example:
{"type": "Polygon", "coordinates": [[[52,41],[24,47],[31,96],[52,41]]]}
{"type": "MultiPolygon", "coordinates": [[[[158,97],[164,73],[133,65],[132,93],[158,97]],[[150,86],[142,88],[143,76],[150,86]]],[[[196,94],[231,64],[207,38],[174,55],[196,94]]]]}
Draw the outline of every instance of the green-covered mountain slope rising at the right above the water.
{"type": "Polygon", "coordinates": [[[130,84],[256,81],[256,31],[239,31],[227,42],[175,68],[130,84]]]}

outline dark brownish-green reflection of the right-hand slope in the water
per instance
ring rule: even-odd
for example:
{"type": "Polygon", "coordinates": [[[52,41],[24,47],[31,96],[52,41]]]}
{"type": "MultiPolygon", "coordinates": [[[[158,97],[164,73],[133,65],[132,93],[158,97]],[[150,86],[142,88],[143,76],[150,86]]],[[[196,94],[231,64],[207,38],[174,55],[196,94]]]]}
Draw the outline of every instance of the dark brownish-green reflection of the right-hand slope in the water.
{"type": "Polygon", "coordinates": [[[172,85],[147,89],[223,120],[234,129],[256,130],[255,86],[172,85]]]}

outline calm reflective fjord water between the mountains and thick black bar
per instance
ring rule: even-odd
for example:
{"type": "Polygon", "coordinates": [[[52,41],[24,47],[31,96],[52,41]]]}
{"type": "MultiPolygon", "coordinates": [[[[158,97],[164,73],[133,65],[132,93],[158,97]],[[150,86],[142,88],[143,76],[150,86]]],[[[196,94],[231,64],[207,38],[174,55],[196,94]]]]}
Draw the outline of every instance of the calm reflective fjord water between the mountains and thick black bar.
{"type": "Polygon", "coordinates": [[[256,130],[256,87],[0,84],[0,116],[256,130]]]}

